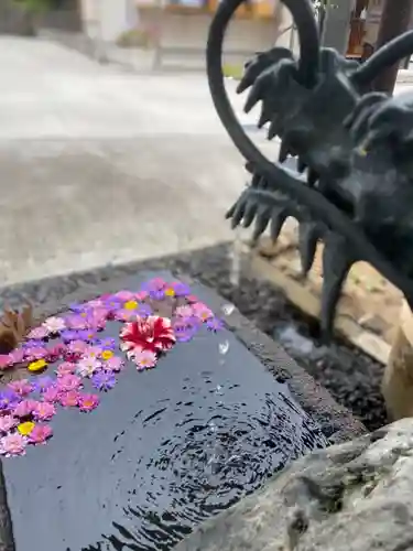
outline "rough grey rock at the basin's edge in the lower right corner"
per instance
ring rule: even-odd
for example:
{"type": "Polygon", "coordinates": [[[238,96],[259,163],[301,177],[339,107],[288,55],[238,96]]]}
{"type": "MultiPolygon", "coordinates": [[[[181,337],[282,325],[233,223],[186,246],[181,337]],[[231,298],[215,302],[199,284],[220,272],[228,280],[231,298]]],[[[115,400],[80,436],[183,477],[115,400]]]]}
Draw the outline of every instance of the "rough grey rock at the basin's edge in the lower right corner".
{"type": "Polygon", "coordinates": [[[413,419],[314,452],[175,551],[413,549],[413,419]]]}

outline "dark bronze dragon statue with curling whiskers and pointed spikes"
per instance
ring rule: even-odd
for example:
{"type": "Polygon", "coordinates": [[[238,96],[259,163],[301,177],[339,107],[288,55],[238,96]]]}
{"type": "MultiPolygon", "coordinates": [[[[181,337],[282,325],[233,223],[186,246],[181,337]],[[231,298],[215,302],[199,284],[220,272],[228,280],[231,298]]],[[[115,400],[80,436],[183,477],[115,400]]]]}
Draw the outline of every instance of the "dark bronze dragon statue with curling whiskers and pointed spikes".
{"type": "Polygon", "coordinates": [[[384,68],[413,53],[413,32],[380,48],[363,64],[319,46],[309,0],[283,0],[300,36],[300,60],[283,47],[257,54],[238,91],[246,111],[261,102],[259,127],[281,139],[278,162],[244,133],[225,90],[226,28],[242,0],[224,0],[213,20],[207,71],[216,110],[247,161],[250,184],[227,217],[232,227],[267,228],[276,240],[295,217],[303,272],[323,240],[322,328],[328,337],[344,281],[354,262],[371,263],[413,306],[413,94],[374,91],[384,68]],[[285,165],[296,158],[297,171],[285,165]]]}

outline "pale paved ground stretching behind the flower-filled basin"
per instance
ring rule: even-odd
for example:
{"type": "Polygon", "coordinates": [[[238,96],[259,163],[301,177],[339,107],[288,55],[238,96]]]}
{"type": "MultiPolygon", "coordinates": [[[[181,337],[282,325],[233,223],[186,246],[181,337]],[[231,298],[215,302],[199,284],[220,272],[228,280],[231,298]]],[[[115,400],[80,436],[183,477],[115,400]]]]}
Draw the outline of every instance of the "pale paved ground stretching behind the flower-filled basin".
{"type": "Polygon", "coordinates": [[[14,37],[0,66],[1,285],[230,237],[246,176],[204,75],[143,77],[14,37]]]}

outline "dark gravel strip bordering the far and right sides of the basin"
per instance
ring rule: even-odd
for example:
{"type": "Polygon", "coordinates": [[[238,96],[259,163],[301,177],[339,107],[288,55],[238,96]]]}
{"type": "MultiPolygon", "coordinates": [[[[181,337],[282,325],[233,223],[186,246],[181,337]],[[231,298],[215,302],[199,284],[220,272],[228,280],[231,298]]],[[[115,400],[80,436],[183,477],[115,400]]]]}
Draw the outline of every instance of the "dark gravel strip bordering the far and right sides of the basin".
{"type": "Polygon", "coordinates": [[[325,346],[316,321],[305,317],[289,303],[282,291],[248,277],[248,270],[241,270],[238,285],[232,284],[230,252],[230,245],[224,244],[174,257],[28,282],[2,289],[0,306],[8,304],[17,307],[26,300],[34,305],[59,301],[79,287],[142,269],[187,273],[215,289],[261,331],[276,338],[290,356],[327,388],[339,403],[350,409],[367,429],[372,431],[385,424],[388,421],[380,393],[383,366],[339,336],[325,346]]]}

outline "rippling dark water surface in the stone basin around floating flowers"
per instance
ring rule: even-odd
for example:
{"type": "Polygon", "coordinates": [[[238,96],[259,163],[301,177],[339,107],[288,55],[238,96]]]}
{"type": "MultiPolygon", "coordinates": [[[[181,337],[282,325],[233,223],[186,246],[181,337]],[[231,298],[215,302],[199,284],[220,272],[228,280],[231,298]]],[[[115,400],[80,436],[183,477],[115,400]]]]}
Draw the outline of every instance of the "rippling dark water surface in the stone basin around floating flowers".
{"type": "MultiPolygon", "coordinates": [[[[208,290],[193,292],[208,304],[208,290]]],[[[101,335],[119,341],[119,328],[101,335]]],[[[59,411],[47,444],[3,460],[17,551],[166,551],[326,445],[287,385],[227,329],[203,327],[151,370],[127,363],[100,399],[90,413],[59,411]]]]}

